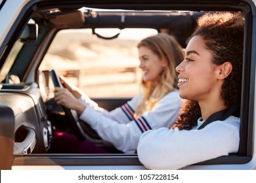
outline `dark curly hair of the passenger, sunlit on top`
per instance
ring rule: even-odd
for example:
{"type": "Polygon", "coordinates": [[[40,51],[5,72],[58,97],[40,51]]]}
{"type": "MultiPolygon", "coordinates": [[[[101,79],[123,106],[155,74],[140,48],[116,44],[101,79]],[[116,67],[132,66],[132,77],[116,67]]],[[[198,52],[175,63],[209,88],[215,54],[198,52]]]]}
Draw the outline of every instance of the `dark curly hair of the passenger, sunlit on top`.
{"type": "MultiPolygon", "coordinates": [[[[215,65],[232,63],[232,72],[225,78],[221,97],[227,107],[240,105],[242,90],[242,61],[244,48],[244,16],[241,12],[215,12],[198,18],[198,27],[190,39],[200,35],[205,41],[215,65]]],[[[188,41],[190,40],[188,39],[188,41]]],[[[239,114],[235,114],[239,116],[239,114]]],[[[201,116],[197,101],[184,100],[180,116],[173,125],[179,129],[192,129],[201,116]]]]}

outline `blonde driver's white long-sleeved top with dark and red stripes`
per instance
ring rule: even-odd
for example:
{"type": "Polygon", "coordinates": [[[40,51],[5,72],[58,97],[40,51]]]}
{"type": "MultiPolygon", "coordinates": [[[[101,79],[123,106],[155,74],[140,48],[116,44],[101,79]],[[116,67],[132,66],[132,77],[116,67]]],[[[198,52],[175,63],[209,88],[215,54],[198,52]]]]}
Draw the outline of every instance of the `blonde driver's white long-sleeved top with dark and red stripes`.
{"type": "Polygon", "coordinates": [[[82,95],[79,100],[87,107],[79,118],[91,125],[102,139],[111,142],[117,150],[135,153],[140,135],[149,129],[171,127],[179,116],[182,103],[179,90],[175,90],[167,93],[152,110],[135,119],[133,114],[141,99],[140,93],[125,105],[108,112],[98,107],[87,95],[82,95]]]}

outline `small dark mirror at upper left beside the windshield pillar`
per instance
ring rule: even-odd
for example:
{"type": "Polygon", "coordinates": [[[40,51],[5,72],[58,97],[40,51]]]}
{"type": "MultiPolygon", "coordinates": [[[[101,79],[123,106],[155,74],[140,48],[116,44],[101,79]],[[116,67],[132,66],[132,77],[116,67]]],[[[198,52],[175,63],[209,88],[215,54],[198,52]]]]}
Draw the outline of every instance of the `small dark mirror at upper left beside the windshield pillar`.
{"type": "Polygon", "coordinates": [[[22,35],[20,35],[21,42],[34,42],[37,40],[38,35],[38,25],[28,24],[26,25],[22,35]]]}

